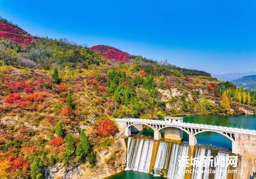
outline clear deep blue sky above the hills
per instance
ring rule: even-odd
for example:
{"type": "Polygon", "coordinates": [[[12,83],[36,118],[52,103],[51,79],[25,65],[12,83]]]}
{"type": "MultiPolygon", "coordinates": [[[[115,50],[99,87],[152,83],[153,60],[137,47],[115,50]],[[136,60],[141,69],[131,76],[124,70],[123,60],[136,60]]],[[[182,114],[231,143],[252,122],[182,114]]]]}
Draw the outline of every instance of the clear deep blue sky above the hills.
{"type": "Polygon", "coordinates": [[[256,1],[4,1],[33,35],[110,45],[210,73],[256,71],[256,1]]]}

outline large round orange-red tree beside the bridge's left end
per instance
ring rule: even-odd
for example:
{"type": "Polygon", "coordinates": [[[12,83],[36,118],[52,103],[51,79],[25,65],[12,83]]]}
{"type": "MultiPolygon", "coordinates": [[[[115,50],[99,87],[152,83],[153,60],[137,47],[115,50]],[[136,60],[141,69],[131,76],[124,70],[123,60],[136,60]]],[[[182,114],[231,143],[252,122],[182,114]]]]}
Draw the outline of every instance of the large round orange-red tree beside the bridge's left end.
{"type": "Polygon", "coordinates": [[[96,134],[101,137],[106,137],[109,135],[114,136],[116,131],[116,124],[110,119],[105,118],[103,121],[97,122],[96,134]]]}

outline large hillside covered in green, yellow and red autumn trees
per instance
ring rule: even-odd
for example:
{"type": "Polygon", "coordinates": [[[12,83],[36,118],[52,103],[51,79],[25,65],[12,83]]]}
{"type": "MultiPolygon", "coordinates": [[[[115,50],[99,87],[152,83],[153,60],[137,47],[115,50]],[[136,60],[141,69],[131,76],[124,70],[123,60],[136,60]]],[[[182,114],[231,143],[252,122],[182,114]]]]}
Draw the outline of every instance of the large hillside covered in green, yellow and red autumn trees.
{"type": "MultiPolygon", "coordinates": [[[[0,35],[11,24],[1,23],[0,35]]],[[[99,155],[118,133],[111,118],[255,113],[255,92],[204,71],[29,36],[0,37],[0,178],[40,179],[60,162],[114,165],[120,150],[99,155]]]]}

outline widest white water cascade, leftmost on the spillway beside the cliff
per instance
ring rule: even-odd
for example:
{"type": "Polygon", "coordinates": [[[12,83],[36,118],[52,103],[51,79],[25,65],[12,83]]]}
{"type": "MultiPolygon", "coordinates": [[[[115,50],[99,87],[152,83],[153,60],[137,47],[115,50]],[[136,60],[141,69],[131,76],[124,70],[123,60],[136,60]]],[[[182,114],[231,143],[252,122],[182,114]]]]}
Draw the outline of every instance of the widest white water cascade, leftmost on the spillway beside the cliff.
{"type": "Polygon", "coordinates": [[[148,173],[153,144],[153,140],[128,137],[126,169],[148,173]]]}

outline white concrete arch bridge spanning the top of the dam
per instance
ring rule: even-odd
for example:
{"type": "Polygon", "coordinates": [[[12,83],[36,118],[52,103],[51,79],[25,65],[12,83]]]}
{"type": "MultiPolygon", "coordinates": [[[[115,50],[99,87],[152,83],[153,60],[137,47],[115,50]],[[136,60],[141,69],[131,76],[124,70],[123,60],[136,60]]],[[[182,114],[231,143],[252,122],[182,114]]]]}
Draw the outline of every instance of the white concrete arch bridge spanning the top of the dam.
{"type": "Polygon", "coordinates": [[[183,122],[182,118],[167,117],[165,120],[149,120],[138,118],[115,119],[120,130],[124,130],[124,136],[131,132],[142,130],[142,125],[154,130],[154,140],[161,139],[161,130],[165,130],[164,138],[182,140],[183,131],[189,135],[189,145],[197,144],[196,134],[201,132],[217,132],[232,141],[232,153],[252,155],[256,157],[256,131],[242,128],[213,126],[183,122]]]}

